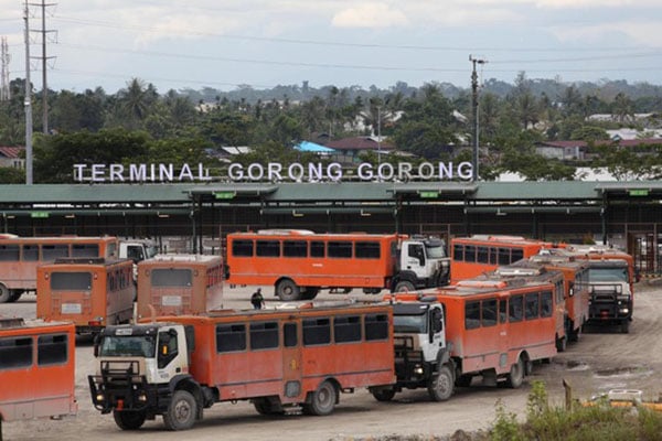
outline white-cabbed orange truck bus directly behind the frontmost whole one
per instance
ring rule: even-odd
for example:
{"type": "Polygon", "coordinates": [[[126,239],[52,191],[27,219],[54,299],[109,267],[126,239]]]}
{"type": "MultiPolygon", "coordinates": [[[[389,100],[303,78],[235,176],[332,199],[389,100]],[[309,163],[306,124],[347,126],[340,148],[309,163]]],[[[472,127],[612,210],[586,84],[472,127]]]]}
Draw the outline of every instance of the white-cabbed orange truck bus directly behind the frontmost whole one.
{"type": "Polygon", "coordinates": [[[393,303],[397,381],[374,388],[391,400],[403,389],[427,387],[449,399],[473,377],[517,388],[533,362],[556,355],[556,295],[540,280],[460,282],[442,289],[386,294],[393,303]]]}

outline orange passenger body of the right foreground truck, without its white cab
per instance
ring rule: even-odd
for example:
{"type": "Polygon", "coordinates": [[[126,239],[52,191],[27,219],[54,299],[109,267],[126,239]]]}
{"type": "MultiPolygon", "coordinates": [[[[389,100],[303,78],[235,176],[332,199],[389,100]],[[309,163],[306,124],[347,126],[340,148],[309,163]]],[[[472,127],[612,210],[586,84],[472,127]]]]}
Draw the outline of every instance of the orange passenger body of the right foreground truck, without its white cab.
{"type": "MultiPolygon", "coordinates": [[[[467,280],[442,289],[387,295],[392,301],[436,300],[444,305],[446,344],[455,385],[521,386],[533,362],[556,355],[557,295],[545,280],[467,280]]],[[[402,325],[402,324],[401,324],[402,325]]]]}

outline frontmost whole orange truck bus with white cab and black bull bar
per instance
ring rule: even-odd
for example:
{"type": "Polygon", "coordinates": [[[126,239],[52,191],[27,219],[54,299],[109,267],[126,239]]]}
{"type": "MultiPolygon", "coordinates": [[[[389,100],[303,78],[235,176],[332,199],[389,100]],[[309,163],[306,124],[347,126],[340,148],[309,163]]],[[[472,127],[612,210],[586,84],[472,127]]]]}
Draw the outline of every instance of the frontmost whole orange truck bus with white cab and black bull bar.
{"type": "Polygon", "coordinates": [[[222,401],[249,400],[263,415],[328,415],[340,392],[394,383],[392,322],[388,304],[355,303],[107,326],[95,343],[92,400],[124,430],[157,416],[185,430],[222,401]]]}

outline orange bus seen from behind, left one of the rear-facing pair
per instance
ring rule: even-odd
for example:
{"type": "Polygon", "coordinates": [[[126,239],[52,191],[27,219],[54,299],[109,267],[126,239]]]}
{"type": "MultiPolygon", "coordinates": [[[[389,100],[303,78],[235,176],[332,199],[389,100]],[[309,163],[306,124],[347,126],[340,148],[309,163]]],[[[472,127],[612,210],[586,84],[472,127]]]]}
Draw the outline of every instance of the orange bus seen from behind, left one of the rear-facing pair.
{"type": "Polygon", "coordinates": [[[70,320],[78,334],[98,333],[134,316],[134,261],[62,258],[36,269],[36,316],[70,320]]]}

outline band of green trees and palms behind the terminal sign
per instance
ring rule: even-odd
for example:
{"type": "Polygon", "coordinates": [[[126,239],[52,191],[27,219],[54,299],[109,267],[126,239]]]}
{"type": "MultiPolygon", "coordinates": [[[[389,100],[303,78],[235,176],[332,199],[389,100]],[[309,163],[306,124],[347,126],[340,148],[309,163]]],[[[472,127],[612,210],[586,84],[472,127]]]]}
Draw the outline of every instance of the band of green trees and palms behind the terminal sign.
{"type": "MultiPolygon", "coordinates": [[[[2,146],[24,146],[23,86],[24,80],[12,80],[11,99],[0,103],[2,146]]],[[[662,88],[640,85],[648,95],[637,89],[637,97],[631,98],[621,92],[632,92],[631,86],[618,82],[590,88],[545,80],[542,86],[543,82],[528,79],[525,73],[510,87],[495,80],[482,85],[482,180],[502,172],[519,172],[527,180],[573,180],[578,165],[607,168],[622,178],[660,178],[660,147],[619,149],[600,141],[608,139],[608,129],[660,128],[662,88]],[[647,127],[638,126],[631,116],[640,112],[655,117],[647,127]],[[588,121],[592,114],[609,114],[612,120],[588,121]],[[589,159],[563,162],[536,153],[537,143],[554,140],[586,141],[589,159]]],[[[414,162],[471,161],[472,97],[468,89],[438,83],[419,88],[397,83],[389,89],[313,89],[305,83],[273,89],[270,99],[263,99],[268,96],[265,92],[256,94],[248,86],[225,95],[216,92],[210,99],[213,92],[185,89],[161,95],[139,78],[110,95],[100,87],[83,93],[49,90],[47,135],[42,133],[42,101],[36,93],[34,182],[73,182],[74,163],[203,163],[222,169],[226,163],[210,153],[225,146],[250,147],[249,153],[233,158],[246,164],[317,161],[312,153],[300,153],[292,146],[302,140],[316,142],[321,135],[340,139],[381,133],[397,151],[413,154],[414,162]],[[237,95],[242,92],[244,95],[237,95]]],[[[371,152],[362,160],[377,162],[371,152]]],[[[389,155],[383,161],[397,160],[389,155]]],[[[24,172],[0,169],[0,182],[23,183],[24,172]]]]}

